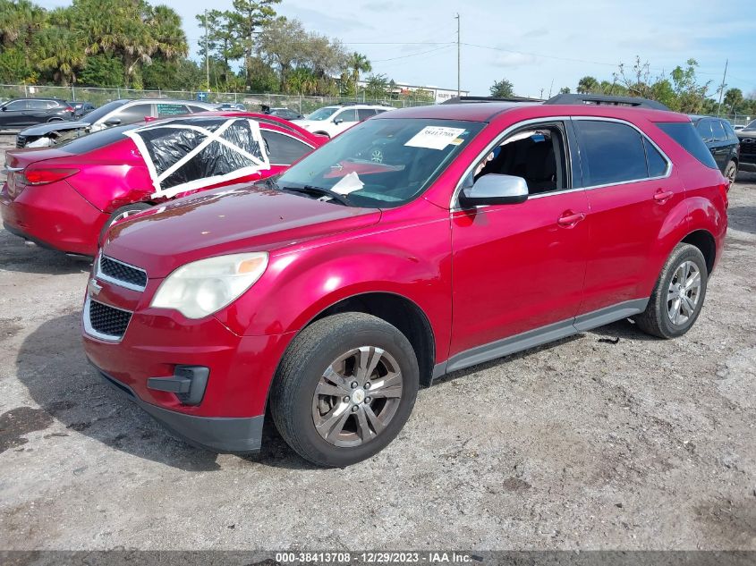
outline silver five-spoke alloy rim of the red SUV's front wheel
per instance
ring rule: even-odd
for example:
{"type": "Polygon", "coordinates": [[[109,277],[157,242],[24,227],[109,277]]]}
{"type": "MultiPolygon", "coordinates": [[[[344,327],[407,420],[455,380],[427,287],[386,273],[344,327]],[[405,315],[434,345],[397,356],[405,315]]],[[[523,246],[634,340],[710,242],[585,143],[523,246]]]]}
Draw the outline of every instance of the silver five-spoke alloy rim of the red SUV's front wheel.
{"type": "Polygon", "coordinates": [[[361,346],[336,358],[312,397],[318,434],[335,446],[359,446],[378,437],[402,400],[403,376],[387,351],[361,346]]]}

